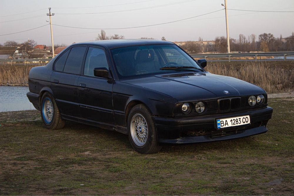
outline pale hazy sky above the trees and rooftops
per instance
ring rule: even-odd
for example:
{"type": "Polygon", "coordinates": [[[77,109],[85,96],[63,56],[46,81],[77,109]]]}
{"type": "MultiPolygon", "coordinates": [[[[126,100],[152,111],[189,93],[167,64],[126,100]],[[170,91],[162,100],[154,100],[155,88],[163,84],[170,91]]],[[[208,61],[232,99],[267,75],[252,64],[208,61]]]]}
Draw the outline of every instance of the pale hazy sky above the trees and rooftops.
{"type": "MultiPolygon", "coordinates": [[[[50,25],[46,22],[49,21],[46,15],[49,7],[54,13],[51,16],[54,44],[92,41],[96,39],[99,29],[105,29],[107,36],[119,34],[130,39],[161,39],[164,36],[172,42],[198,41],[200,36],[203,40],[214,40],[216,36],[226,36],[225,10],[222,10],[221,4],[224,4],[224,0],[0,0],[0,43],[7,40],[24,42],[30,38],[38,44],[50,46],[50,25]],[[210,12],[214,13],[207,14],[210,12]],[[178,21],[181,19],[186,20],[178,21]],[[178,22],[148,26],[171,21],[178,22]],[[43,27],[25,31],[40,26],[43,27]],[[137,26],[148,27],[118,29],[137,26]],[[19,31],[25,32],[15,33],[19,31]],[[9,33],[15,34],[4,35],[9,33]]],[[[294,0],[227,0],[227,7],[254,11],[294,11],[294,0]]],[[[227,11],[231,38],[238,39],[239,34],[248,37],[252,33],[257,36],[272,33],[275,37],[280,37],[280,34],[287,37],[294,31],[294,12],[227,11]]]]}

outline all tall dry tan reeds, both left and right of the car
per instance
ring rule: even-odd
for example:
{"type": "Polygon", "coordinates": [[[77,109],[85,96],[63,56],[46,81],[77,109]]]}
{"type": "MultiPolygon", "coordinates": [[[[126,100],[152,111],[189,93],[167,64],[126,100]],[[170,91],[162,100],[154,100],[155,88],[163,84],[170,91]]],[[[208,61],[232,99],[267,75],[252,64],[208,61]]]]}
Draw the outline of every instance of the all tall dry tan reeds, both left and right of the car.
{"type": "MultiPolygon", "coordinates": [[[[268,65],[266,62],[208,62],[206,70],[253,83],[267,93],[282,93],[294,89],[294,66],[268,65]]],[[[33,66],[0,65],[0,85],[28,86],[29,71],[33,66]]]]}

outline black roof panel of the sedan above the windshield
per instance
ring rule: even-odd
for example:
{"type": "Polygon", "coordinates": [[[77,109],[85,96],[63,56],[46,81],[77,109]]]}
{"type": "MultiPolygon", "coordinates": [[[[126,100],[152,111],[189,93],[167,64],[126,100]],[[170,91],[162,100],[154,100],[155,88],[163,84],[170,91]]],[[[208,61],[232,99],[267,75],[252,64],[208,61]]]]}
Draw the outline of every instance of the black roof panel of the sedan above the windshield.
{"type": "Polygon", "coordinates": [[[73,45],[80,44],[92,44],[98,46],[104,46],[108,49],[126,47],[126,46],[138,46],[138,45],[153,45],[153,44],[173,44],[169,41],[155,40],[155,39],[111,39],[111,40],[99,40],[75,43],[73,45]]]}

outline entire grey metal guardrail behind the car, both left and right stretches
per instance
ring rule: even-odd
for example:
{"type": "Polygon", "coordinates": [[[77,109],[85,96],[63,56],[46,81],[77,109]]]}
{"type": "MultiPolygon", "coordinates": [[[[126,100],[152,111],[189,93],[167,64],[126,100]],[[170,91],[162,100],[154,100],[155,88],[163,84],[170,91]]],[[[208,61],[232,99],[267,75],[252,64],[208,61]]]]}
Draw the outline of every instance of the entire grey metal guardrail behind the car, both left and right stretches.
{"type": "MultiPolygon", "coordinates": [[[[246,60],[258,60],[258,57],[261,56],[274,56],[274,57],[282,57],[281,59],[273,59],[268,58],[270,60],[287,60],[287,56],[293,56],[294,52],[258,52],[258,53],[203,53],[203,54],[190,54],[193,58],[213,58],[213,60],[217,61],[214,58],[227,58],[230,62],[234,57],[254,57],[253,59],[240,59],[240,61],[246,60]]],[[[52,58],[34,58],[34,59],[5,59],[0,60],[0,65],[46,65],[52,58]]],[[[266,59],[263,59],[266,60],[266,59]]],[[[294,60],[294,59],[293,59],[294,60]]]]}

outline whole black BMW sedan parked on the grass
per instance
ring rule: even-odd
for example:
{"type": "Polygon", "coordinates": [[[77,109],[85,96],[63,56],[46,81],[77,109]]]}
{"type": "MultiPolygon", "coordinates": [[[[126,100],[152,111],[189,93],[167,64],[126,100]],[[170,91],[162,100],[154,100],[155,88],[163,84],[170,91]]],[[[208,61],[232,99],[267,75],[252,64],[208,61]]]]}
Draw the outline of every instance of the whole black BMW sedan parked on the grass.
{"type": "Polygon", "coordinates": [[[70,120],[116,130],[144,154],[267,132],[266,92],[206,63],[168,41],[75,43],[31,69],[27,97],[48,129],[70,120]]]}

